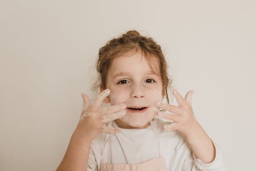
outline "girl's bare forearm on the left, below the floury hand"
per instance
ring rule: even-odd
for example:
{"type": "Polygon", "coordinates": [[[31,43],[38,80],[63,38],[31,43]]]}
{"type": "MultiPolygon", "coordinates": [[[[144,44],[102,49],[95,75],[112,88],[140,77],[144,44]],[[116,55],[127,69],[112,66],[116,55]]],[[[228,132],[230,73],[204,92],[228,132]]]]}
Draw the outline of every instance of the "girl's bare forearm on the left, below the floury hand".
{"type": "Polygon", "coordinates": [[[79,126],[74,131],[65,156],[56,170],[87,170],[91,140],[87,140],[79,126]]]}

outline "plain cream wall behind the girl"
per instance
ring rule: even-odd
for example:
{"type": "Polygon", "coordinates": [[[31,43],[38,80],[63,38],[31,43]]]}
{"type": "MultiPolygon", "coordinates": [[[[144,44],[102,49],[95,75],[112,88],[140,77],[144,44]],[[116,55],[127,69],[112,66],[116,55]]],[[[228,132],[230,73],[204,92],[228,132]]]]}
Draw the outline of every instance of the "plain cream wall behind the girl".
{"type": "MultiPolygon", "coordinates": [[[[230,170],[255,160],[254,1],[1,1],[0,170],[55,170],[93,98],[98,50],[128,30],[162,47],[173,86],[230,170]]],[[[176,103],[176,100],[173,100],[176,103]]]]}

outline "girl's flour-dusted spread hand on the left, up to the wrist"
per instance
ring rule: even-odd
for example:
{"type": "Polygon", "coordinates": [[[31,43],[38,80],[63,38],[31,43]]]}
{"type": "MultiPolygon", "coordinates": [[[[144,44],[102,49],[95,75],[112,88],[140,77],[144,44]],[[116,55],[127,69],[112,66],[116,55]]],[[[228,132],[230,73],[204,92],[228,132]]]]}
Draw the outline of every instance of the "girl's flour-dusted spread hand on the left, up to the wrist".
{"type": "Polygon", "coordinates": [[[78,123],[78,127],[82,128],[83,135],[90,140],[96,138],[100,133],[117,134],[121,130],[119,128],[107,127],[105,123],[118,119],[126,114],[125,103],[120,103],[105,108],[100,108],[104,98],[110,94],[110,90],[102,91],[95,99],[93,104],[86,94],[82,94],[83,109],[78,123]]]}

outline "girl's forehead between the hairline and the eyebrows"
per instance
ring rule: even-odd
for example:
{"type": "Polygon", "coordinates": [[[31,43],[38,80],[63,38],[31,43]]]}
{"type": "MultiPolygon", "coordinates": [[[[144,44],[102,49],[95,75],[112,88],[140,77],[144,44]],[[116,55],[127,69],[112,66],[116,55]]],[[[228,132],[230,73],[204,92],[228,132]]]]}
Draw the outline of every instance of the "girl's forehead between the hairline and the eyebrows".
{"type": "Polygon", "coordinates": [[[155,56],[144,56],[140,52],[129,52],[116,57],[110,66],[109,74],[155,74],[159,75],[159,61],[155,56]]]}

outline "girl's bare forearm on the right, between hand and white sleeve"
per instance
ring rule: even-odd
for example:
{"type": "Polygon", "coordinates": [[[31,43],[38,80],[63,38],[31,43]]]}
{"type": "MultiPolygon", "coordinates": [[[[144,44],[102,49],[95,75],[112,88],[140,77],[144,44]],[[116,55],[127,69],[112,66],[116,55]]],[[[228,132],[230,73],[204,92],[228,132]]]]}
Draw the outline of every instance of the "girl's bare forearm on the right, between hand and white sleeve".
{"type": "Polygon", "coordinates": [[[199,123],[184,136],[196,158],[204,163],[214,161],[216,155],[215,146],[199,123]]]}

